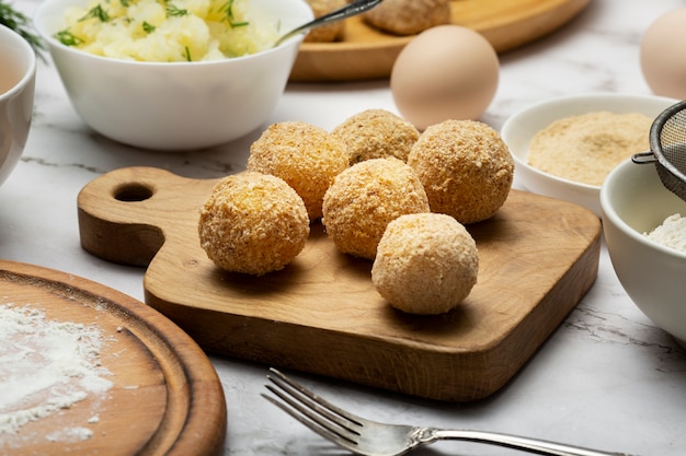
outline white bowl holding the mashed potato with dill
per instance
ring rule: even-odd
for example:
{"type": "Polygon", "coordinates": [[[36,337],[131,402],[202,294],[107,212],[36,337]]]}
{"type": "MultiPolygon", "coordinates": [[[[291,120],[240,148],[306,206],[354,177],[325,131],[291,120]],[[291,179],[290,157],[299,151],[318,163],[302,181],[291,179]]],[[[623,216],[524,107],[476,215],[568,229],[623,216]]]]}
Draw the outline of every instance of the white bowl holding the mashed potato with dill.
{"type": "MultiPolygon", "coordinates": [[[[260,127],[288,81],[302,36],[245,57],[205,62],[103,58],[62,45],[65,9],[88,0],[45,0],[35,26],[79,116],[93,130],[144,149],[192,150],[260,127]]],[[[302,0],[250,0],[255,17],[288,31],[312,19],[302,0]]]]}

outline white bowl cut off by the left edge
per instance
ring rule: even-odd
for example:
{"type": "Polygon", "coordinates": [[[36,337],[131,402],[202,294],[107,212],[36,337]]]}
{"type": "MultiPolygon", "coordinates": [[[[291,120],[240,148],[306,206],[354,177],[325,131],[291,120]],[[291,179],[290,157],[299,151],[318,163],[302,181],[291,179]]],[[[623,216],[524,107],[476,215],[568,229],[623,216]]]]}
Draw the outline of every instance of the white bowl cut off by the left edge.
{"type": "Polygon", "coordinates": [[[0,25],[0,184],[21,157],[33,115],[36,55],[19,34],[0,25]]]}

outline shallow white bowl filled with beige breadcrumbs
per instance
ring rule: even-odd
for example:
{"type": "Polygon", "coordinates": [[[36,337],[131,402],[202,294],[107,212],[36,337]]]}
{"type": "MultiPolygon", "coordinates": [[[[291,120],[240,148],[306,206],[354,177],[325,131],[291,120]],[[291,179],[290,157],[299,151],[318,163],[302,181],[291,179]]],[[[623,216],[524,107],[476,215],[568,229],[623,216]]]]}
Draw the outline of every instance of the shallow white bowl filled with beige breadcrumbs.
{"type": "Polygon", "coordinates": [[[619,163],[650,149],[654,118],[674,103],[653,95],[594,93],[521,109],[501,130],[515,160],[515,185],[601,217],[604,179],[619,163]]]}

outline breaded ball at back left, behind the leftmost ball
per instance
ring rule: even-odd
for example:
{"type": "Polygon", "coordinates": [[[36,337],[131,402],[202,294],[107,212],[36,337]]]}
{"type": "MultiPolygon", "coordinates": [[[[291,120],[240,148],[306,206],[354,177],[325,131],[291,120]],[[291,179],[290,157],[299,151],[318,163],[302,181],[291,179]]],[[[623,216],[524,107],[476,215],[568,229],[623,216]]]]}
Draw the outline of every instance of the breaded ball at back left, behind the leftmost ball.
{"type": "Polygon", "coordinates": [[[248,171],[286,180],[302,198],[310,220],[321,217],[327,189],[347,167],[345,145],[327,130],[301,121],[271,125],[252,143],[248,159],[248,171]]]}

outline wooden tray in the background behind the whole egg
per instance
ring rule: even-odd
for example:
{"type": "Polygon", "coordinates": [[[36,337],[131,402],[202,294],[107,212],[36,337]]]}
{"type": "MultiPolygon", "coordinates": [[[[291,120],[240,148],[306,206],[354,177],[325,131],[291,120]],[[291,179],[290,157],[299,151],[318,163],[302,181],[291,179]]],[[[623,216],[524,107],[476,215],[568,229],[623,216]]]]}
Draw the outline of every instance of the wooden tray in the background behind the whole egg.
{"type": "MultiPolygon", "coordinates": [[[[538,39],[576,16],[591,0],[454,0],[453,23],[481,33],[498,52],[538,39]]],[[[353,81],[390,75],[412,36],[368,26],[361,16],[346,20],[336,43],[304,43],[290,81],[353,81]]]]}

